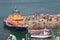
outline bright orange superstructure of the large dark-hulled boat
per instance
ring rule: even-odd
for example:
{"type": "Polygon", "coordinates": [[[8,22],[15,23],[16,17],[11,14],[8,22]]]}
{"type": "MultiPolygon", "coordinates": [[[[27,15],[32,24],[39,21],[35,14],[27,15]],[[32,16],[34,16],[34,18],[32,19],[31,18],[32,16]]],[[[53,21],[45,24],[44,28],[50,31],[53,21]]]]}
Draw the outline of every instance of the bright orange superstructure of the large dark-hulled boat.
{"type": "Polygon", "coordinates": [[[18,13],[14,13],[12,15],[10,15],[7,20],[8,23],[10,24],[14,24],[14,25],[23,25],[24,24],[24,20],[22,15],[18,14],[18,13]]]}

